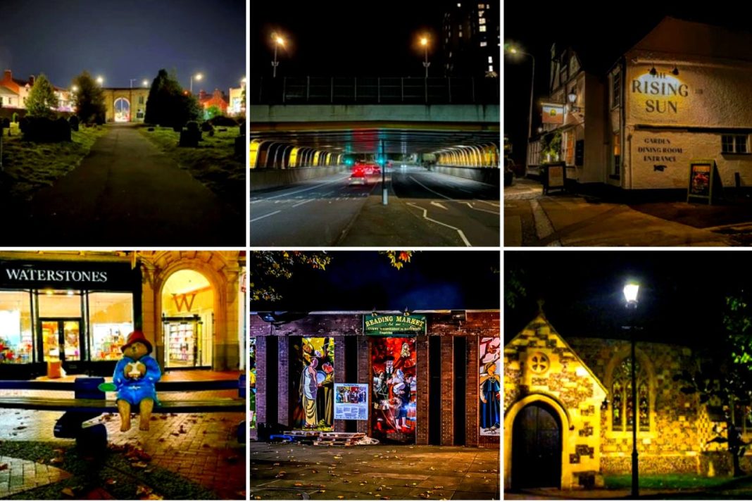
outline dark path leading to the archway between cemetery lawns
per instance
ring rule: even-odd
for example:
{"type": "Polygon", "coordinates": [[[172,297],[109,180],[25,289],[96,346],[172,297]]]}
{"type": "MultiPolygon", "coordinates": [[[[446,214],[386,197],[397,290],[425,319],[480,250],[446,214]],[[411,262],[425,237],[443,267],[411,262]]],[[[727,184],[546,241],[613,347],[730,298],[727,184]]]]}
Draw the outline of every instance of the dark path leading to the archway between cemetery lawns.
{"type": "Polygon", "coordinates": [[[244,210],[223,204],[135,127],[108,128],[78,168],[37,192],[9,245],[244,246],[244,210]]]}

